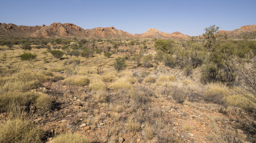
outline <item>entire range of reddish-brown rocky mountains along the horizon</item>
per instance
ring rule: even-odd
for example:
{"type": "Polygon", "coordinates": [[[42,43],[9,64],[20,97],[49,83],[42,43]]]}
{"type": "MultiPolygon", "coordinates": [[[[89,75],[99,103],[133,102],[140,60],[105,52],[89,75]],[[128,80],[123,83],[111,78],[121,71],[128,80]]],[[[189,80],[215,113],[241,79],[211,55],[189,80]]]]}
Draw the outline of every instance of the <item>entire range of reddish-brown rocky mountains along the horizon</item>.
{"type": "MultiPolygon", "coordinates": [[[[218,34],[226,35],[228,38],[240,38],[246,34],[256,35],[256,25],[242,26],[233,31],[219,31],[218,34]]],[[[31,37],[31,38],[157,38],[157,39],[189,39],[190,36],[180,32],[164,33],[155,28],[148,29],[143,34],[132,35],[115,27],[97,27],[86,29],[72,23],[52,23],[49,26],[23,26],[15,24],[0,23],[0,36],[31,37]]],[[[256,37],[255,37],[256,38],[256,37]]]]}

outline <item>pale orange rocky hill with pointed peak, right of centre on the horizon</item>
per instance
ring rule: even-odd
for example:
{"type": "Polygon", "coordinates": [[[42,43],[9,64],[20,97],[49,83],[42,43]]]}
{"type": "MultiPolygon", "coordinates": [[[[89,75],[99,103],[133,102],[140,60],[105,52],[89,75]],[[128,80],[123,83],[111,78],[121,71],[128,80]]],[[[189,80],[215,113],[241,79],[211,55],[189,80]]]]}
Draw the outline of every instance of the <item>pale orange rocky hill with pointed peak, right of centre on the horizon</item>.
{"type": "Polygon", "coordinates": [[[150,28],[147,30],[147,32],[143,34],[135,34],[134,37],[136,38],[158,38],[158,39],[189,39],[190,36],[184,35],[180,32],[174,32],[174,33],[165,33],[160,32],[155,28],[150,28]]]}

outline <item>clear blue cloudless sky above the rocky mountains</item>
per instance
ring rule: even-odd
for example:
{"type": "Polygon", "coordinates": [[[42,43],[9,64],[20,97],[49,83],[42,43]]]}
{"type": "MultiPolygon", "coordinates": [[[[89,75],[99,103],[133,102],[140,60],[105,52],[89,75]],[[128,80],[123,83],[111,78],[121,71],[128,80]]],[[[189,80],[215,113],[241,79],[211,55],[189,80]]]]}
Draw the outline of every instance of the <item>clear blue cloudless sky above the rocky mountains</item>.
{"type": "Polygon", "coordinates": [[[84,29],[114,26],[131,34],[157,28],[198,36],[214,24],[220,30],[256,24],[256,0],[0,0],[0,8],[1,23],[35,26],[61,22],[84,29]]]}

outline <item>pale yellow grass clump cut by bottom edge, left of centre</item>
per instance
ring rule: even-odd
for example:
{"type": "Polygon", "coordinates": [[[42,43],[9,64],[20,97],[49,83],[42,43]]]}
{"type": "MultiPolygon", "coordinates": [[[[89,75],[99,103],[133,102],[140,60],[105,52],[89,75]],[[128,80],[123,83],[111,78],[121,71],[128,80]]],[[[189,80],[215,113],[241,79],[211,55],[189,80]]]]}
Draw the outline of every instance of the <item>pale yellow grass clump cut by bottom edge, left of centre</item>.
{"type": "Polygon", "coordinates": [[[81,134],[78,133],[65,133],[59,134],[53,138],[52,143],[87,143],[89,142],[86,138],[84,138],[81,134]]]}

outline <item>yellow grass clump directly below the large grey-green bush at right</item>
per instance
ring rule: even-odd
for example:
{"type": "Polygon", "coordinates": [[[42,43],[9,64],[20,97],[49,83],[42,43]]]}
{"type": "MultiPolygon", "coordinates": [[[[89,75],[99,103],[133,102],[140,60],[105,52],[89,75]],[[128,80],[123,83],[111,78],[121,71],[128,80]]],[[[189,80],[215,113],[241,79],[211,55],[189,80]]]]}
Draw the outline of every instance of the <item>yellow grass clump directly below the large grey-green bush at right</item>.
{"type": "Polygon", "coordinates": [[[204,93],[206,100],[223,104],[224,98],[227,97],[228,88],[223,83],[209,83],[204,93]]]}

